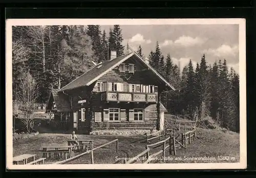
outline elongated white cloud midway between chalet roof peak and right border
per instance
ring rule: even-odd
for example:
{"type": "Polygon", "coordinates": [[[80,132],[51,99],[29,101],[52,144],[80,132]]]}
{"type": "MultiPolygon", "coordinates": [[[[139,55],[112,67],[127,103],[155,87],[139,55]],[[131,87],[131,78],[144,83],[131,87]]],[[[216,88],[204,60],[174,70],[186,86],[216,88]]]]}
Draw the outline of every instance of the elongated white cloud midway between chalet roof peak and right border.
{"type": "Polygon", "coordinates": [[[200,37],[190,37],[190,36],[180,36],[178,39],[175,41],[170,40],[170,39],[165,39],[164,42],[160,43],[160,47],[166,47],[166,46],[184,46],[184,47],[189,47],[189,46],[195,46],[199,44],[203,44],[206,41],[204,38],[200,37]]]}

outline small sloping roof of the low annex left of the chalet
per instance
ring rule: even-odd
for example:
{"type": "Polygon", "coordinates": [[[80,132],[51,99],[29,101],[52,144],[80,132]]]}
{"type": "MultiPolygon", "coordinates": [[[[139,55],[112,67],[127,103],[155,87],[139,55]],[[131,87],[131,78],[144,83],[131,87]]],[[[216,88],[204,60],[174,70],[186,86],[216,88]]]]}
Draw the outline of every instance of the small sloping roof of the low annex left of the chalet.
{"type": "MultiPolygon", "coordinates": [[[[65,94],[58,93],[58,89],[53,88],[51,95],[53,96],[53,100],[56,104],[57,112],[70,112],[71,111],[69,99],[65,94]]],[[[51,96],[50,96],[50,98],[51,98],[51,96]]],[[[52,102],[52,101],[50,101],[50,98],[48,101],[48,105],[49,105],[49,102],[52,102]]],[[[47,107],[48,107],[48,105],[47,105],[47,107]]]]}

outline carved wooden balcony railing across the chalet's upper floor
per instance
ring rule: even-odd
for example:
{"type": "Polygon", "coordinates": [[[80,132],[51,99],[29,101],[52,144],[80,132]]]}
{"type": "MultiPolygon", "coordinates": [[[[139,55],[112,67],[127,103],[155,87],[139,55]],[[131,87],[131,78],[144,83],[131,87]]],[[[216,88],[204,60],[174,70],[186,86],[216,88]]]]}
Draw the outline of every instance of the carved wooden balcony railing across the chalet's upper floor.
{"type": "Polygon", "coordinates": [[[131,92],[102,92],[101,101],[117,102],[157,102],[157,94],[154,93],[131,93],[131,92]]]}

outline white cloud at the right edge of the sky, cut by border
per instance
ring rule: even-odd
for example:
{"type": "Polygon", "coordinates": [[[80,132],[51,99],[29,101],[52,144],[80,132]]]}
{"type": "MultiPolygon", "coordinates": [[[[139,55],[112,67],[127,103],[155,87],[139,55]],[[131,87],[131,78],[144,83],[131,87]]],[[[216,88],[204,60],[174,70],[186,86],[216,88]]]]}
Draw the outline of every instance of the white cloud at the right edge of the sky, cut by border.
{"type": "Polygon", "coordinates": [[[211,54],[213,56],[217,57],[234,57],[238,55],[238,46],[234,45],[233,47],[227,45],[227,44],[222,44],[219,48],[217,49],[208,49],[204,50],[204,53],[211,54]]]}

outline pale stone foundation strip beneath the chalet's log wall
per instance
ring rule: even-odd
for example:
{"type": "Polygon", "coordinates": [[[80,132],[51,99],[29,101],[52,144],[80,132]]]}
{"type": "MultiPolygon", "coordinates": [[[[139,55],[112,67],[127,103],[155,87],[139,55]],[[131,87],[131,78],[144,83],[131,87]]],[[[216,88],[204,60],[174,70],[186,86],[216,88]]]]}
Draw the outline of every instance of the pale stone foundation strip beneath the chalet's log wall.
{"type": "MultiPolygon", "coordinates": [[[[157,130],[153,130],[156,132],[157,130]]],[[[145,135],[150,134],[151,130],[99,130],[92,131],[90,135],[145,135]]]]}

